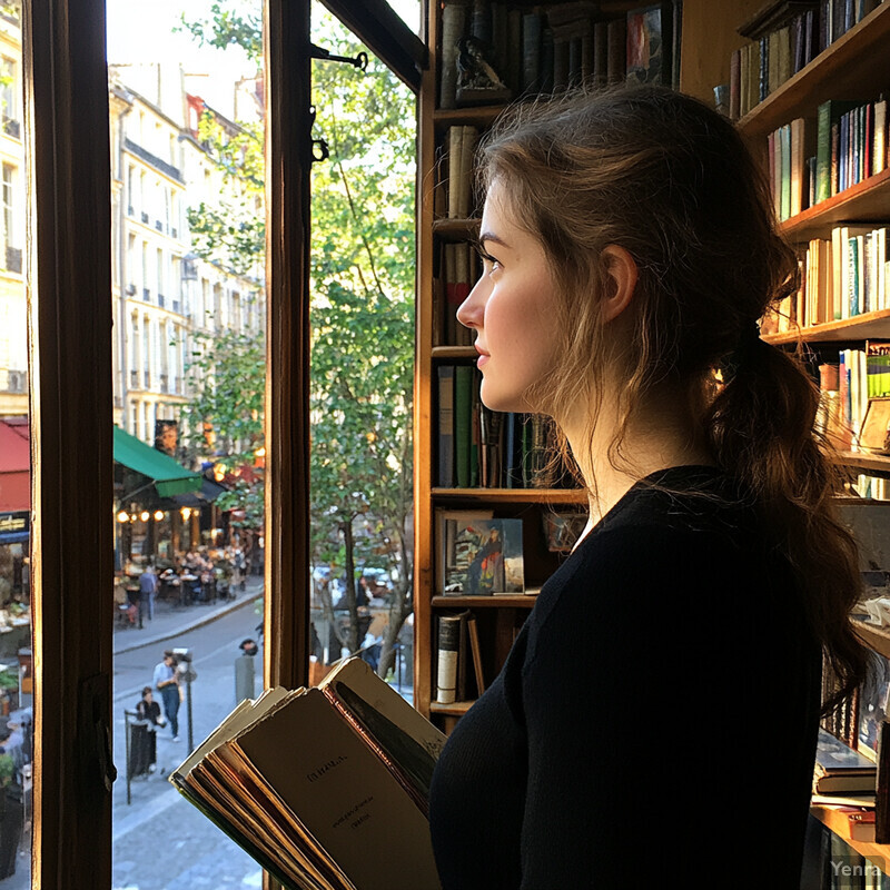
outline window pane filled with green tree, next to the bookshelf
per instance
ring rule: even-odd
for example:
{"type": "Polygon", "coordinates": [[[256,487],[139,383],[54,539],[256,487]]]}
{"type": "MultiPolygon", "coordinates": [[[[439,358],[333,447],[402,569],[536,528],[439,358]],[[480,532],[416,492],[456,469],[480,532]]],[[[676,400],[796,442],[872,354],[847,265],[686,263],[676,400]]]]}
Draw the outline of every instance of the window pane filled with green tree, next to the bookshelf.
{"type": "MultiPolygon", "coordinates": [[[[365,50],[320,3],[313,40],[365,50]]],[[[312,676],[360,653],[412,686],[415,98],[372,56],[313,66],[312,676]]]]}

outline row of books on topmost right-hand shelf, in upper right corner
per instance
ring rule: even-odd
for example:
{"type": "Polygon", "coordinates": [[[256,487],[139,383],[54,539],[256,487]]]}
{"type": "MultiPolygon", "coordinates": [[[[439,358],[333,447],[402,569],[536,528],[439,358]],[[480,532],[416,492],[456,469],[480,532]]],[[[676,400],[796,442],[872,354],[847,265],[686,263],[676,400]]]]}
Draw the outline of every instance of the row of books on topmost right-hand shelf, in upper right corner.
{"type": "Polygon", "coordinates": [[[780,0],[739,28],[751,40],[730,57],[730,117],[746,115],[880,4],[780,0]]]}

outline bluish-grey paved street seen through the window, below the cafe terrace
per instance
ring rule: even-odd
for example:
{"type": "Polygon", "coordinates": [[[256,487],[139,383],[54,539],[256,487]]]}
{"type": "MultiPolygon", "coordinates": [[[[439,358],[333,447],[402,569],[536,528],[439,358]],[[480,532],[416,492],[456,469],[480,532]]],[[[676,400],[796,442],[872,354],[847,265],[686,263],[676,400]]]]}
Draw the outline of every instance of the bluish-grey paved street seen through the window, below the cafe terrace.
{"type": "MultiPolygon", "coordinates": [[[[235,706],[235,660],[245,637],[256,639],[260,614],[244,605],[210,624],[115,659],[113,890],[248,890],[263,884],[261,870],[209,819],[180,797],[167,773],[188,754],[186,703],[179,711],[181,741],[169,728],[158,733],[158,772],[132,781],[127,803],[123,710],[134,710],[144,685],[151,683],[165,649],[189,647],[198,678],[191,686],[194,740],[199,744],[235,706]],[[162,770],[162,774],[161,774],[162,770]]],[[[261,683],[257,657],[256,691],[261,683]]],[[[6,890],[6,883],[2,884],[6,890]]]]}

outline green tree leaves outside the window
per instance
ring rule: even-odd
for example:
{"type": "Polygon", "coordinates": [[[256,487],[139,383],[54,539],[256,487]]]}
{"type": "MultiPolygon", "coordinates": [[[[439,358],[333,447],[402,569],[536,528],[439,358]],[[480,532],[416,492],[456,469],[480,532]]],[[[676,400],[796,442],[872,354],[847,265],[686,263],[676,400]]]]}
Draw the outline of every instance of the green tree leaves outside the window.
{"type": "MultiPolygon", "coordinates": [[[[204,42],[235,40],[253,52],[259,39],[258,31],[244,32],[248,8],[215,3],[212,21],[187,28],[204,42]]],[[[367,51],[318,6],[313,26],[313,41],[335,55],[367,51]]],[[[313,561],[340,577],[365,561],[395,568],[393,616],[400,626],[411,611],[413,571],[415,99],[372,57],[365,73],[314,61],[313,101],[313,138],[330,149],[330,159],[312,170],[313,561]]],[[[263,182],[260,134],[233,135],[210,116],[200,126],[224,180],[244,181],[249,202],[263,182]]],[[[244,209],[194,208],[196,253],[236,271],[251,268],[265,231],[261,216],[244,209]]],[[[226,335],[207,344],[195,368],[204,388],[194,418],[212,423],[215,447],[259,441],[260,427],[245,421],[258,416],[261,425],[259,344],[226,335]]]]}

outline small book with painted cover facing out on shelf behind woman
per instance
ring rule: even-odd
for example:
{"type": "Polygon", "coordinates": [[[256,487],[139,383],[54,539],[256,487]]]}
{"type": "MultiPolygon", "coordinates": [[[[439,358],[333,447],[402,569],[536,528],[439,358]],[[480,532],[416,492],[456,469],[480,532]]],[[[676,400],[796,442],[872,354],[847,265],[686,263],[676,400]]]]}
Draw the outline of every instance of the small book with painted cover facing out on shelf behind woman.
{"type": "Polygon", "coordinates": [[[448,520],[445,593],[522,593],[522,520],[448,520]]]}

